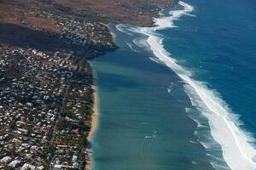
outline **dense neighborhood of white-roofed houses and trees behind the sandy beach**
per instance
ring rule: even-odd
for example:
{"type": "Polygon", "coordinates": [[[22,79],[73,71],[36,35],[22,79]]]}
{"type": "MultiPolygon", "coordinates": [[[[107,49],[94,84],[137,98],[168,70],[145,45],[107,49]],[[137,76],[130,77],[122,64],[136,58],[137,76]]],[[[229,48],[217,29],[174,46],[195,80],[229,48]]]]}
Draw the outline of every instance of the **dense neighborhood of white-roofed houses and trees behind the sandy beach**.
{"type": "Polygon", "coordinates": [[[72,52],[0,50],[0,167],[84,167],[93,104],[89,64],[76,63],[72,52]]]}

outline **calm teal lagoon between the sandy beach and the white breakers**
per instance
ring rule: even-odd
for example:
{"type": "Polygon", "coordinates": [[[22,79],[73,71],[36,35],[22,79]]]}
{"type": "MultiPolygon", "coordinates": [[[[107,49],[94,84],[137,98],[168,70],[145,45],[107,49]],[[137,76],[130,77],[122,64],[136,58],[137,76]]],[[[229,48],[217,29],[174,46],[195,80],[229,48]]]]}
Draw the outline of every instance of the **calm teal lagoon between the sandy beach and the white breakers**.
{"type": "Polygon", "coordinates": [[[101,115],[93,169],[212,169],[185,111],[191,105],[183,82],[116,34],[120,48],[92,63],[101,115]]]}

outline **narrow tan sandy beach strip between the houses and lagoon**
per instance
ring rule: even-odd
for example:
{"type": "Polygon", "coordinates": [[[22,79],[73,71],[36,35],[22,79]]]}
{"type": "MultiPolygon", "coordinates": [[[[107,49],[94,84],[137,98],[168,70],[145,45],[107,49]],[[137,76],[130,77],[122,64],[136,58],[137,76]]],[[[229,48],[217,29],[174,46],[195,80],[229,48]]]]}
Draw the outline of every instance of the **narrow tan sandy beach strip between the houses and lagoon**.
{"type": "MultiPolygon", "coordinates": [[[[96,127],[98,124],[98,116],[99,116],[99,111],[98,111],[98,96],[97,96],[97,92],[96,92],[96,85],[93,85],[92,88],[95,90],[94,94],[93,94],[93,98],[94,98],[94,105],[93,105],[93,114],[91,115],[91,127],[90,127],[90,132],[88,134],[87,140],[89,142],[91,142],[91,140],[93,139],[93,135],[96,131],[96,127]]],[[[92,150],[91,148],[86,148],[86,153],[87,153],[87,157],[86,157],[86,170],[90,170],[91,166],[92,166],[92,150]]]]}

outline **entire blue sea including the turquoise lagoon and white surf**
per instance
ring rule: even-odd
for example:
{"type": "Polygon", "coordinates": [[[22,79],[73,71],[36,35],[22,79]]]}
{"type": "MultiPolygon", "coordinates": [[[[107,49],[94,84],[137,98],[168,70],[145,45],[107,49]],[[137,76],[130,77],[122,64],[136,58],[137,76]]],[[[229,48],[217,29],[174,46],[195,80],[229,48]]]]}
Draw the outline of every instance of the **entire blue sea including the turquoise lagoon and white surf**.
{"type": "Polygon", "coordinates": [[[93,169],[256,169],[256,3],[179,1],[91,62],[93,169]]]}

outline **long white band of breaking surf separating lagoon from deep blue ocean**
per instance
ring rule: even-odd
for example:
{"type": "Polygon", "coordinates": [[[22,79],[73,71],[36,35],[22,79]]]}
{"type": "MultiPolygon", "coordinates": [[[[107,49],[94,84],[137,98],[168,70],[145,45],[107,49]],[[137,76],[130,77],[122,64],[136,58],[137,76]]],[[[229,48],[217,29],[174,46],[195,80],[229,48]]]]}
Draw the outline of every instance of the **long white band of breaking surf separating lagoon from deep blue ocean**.
{"type": "MultiPolygon", "coordinates": [[[[175,27],[174,20],[178,20],[183,14],[189,14],[193,7],[187,3],[179,2],[182,10],[170,12],[169,17],[154,19],[153,28],[141,28],[143,34],[148,36],[148,44],[154,55],[175,71],[183,82],[186,82],[186,91],[193,105],[195,105],[204,116],[207,117],[211,127],[212,137],[220,144],[223,150],[224,160],[232,170],[253,170],[256,169],[256,150],[253,147],[253,138],[247,135],[238,126],[237,117],[230,111],[229,107],[219,98],[218,94],[207,88],[202,82],[195,81],[189,71],[177,65],[175,59],[161,44],[161,37],[154,31],[175,27]]],[[[195,132],[196,133],[196,132],[195,132]]],[[[204,144],[205,147],[207,144],[204,144]]]]}

